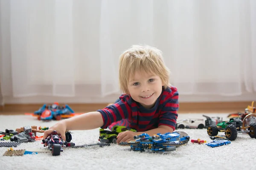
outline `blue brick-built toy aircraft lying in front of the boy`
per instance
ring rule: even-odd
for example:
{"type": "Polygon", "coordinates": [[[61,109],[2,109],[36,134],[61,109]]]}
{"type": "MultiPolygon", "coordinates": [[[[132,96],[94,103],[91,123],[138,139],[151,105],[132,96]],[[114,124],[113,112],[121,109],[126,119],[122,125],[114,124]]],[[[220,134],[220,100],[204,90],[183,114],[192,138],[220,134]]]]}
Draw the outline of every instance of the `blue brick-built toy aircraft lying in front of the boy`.
{"type": "Polygon", "coordinates": [[[146,151],[152,153],[166,153],[176,150],[177,146],[181,146],[189,142],[190,137],[185,132],[175,131],[173,133],[157,133],[149,136],[147,133],[134,136],[134,141],[121,142],[121,146],[130,146],[133,151],[146,151]]]}

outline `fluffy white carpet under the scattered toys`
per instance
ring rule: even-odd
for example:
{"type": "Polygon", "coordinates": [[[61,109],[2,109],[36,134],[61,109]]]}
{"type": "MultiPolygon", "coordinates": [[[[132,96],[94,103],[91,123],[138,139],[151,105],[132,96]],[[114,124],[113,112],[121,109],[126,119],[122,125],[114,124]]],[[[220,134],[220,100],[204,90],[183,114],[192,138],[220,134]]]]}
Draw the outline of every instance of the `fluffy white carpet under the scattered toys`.
{"type": "MultiPolygon", "coordinates": [[[[202,114],[180,114],[178,119],[199,117],[202,114]]],[[[220,116],[227,120],[227,114],[206,114],[220,116]]],[[[26,125],[51,126],[55,121],[41,122],[32,116],[4,116],[0,115],[0,131],[20,128],[26,125]]],[[[212,141],[207,130],[184,129],[190,139],[212,141]]],[[[38,133],[37,136],[41,136],[38,133]]],[[[76,145],[93,144],[98,142],[99,129],[87,131],[73,131],[72,142],[76,145]]],[[[2,141],[1,141],[2,142],[2,141]]],[[[247,134],[238,134],[231,144],[210,148],[205,144],[189,143],[177,147],[168,154],[140,153],[130,151],[130,147],[112,144],[110,147],[98,148],[64,148],[60,156],[51,153],[36,155],[3,156],[8,147],[0,147],[0,170],[132,170],[132,169],[168,169],[168,170],[256,170],[256,139],[247,134]]],[[[43,148],[41,141],[22,143],[17,149],[43,148]]]]}

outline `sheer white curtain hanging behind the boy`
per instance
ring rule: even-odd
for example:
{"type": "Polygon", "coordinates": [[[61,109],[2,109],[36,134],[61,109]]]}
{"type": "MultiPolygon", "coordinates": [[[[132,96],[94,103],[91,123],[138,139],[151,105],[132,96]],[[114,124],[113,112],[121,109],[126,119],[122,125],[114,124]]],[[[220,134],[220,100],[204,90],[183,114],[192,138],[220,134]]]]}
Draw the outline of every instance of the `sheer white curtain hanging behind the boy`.
{"type": "Polygon", "coordinates": [[[0,0],[5,97],[119,96],[118,58],[163,51],[180,95],[256,92],[255,0],[0,0]]]}

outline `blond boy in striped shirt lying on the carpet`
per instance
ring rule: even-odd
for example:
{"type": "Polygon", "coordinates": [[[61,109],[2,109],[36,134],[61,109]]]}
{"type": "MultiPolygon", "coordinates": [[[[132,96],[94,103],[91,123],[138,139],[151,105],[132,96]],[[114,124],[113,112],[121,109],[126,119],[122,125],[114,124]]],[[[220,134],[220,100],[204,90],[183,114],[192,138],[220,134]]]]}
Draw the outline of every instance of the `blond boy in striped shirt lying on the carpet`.
{"type": "MultiPolygon", "coordinates": [[[[149,135],[175,130],[178,92],[169,85],[169,70],[164,65],[160,50],[147,45],[133,45],[121,54],[119,84],[125,94],[115,104],[62,120],[46,130],[43,138],[56,130],[66,140],[66,130],[111,129],[113,125],[124,125],[149,135]]],[[[116,142],[134,140],[137,134],[130,130],[119,133],[116,142]]]]}

